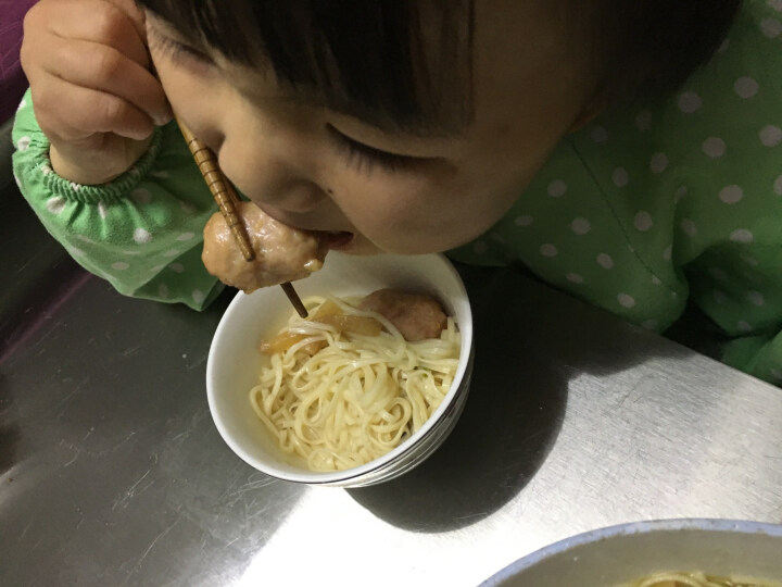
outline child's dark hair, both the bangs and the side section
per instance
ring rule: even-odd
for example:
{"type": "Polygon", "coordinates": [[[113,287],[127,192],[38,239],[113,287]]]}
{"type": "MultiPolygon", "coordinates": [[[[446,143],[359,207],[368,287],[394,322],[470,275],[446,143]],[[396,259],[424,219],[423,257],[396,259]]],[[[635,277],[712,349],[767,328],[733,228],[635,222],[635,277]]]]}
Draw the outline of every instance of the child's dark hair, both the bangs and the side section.
{"type": "MultiPolygon", "coordinates": [[[[518,0],[521,1],[521,0],[518,0]]],[[[679,87],[741,0],[527,0],[593,53],[605,104],[679,87]]],[[[472,116],[475,0],[137,0],[229,60],[379,126],[453,132],[472,116]]]]}

